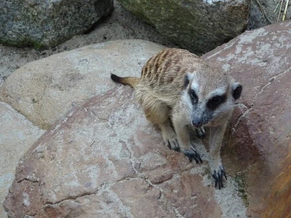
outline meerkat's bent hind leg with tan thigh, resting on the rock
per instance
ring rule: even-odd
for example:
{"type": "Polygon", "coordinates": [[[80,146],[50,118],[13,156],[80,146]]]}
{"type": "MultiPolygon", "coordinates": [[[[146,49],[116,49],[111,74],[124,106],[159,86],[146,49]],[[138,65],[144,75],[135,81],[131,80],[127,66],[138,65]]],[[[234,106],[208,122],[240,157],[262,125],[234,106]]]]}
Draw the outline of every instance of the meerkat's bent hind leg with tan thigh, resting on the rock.
{"type": "Polygon", "coordinates": [[[156,104],[155,109],[146,109],[146,118],[153,124],[159,125],[165,144],[175,151],[179,151],[178,137],[169,120],[169,109],[165,105],[156,104]]]}

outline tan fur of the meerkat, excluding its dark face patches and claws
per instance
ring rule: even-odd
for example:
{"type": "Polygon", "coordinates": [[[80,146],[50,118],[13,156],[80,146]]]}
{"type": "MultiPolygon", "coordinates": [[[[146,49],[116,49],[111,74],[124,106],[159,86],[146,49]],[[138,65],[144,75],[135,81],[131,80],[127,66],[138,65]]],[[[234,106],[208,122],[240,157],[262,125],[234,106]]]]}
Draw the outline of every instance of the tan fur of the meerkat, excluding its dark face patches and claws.
{"type": "MultiPolygon", "coordinates": [[[[200,158],[190,144],[186,128],[187,125],[191,125],[191,105],[187,103],[189,101],[187,92],[192,84],[199,87],[201,99],[207,99],[214,90],[225,90],[227,97],[225,111],[227,116],[232,113],[232,78],[221,71],[212,69],[205,61],[187,50],[166,48],[154,55],[143,67],[138,84],[138,78],[122,79],[121,83],[134,87],[135,98],[144,110],[146,118],[153,124],[159,125],[165,143],[172,149],[181,150],[190,161],[191,157],[196,162],[200,158]],[[186,74],[191,75],[192,78],[185,90],[186,74]],[[171,127],[170,117],[172,117],[176,132],[171,127]]],[[[224,113],[217,113],[217,117],[206,125],[213,127],[210,128],[212,176],[216,173],[216,176],[221,177],[224,172],[220,159],[220,146],[227,124],[224,116],[226,116],[224,113]]],[[[204,131],[204,128],[200,131],[204,131]]]]}

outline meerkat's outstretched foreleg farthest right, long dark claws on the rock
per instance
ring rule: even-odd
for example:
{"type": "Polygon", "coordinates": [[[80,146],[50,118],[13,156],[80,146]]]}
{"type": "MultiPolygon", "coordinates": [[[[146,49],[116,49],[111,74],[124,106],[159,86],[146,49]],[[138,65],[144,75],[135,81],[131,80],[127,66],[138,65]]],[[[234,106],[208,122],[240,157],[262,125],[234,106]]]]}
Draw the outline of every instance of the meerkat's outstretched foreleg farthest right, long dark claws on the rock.
{"type": "MultiPolygon", "coordinates": [[[[226,123],[223,125],[210,127],[210,173],[215,180],[215,187],[218,184],[219,189],[223,187],[223,176],[226,178],[225,170],[221,163],[220,148],[224,133],[226,130],[226,123]]],[[[227,180],[227,178],[226,178],[227,180]]]]}

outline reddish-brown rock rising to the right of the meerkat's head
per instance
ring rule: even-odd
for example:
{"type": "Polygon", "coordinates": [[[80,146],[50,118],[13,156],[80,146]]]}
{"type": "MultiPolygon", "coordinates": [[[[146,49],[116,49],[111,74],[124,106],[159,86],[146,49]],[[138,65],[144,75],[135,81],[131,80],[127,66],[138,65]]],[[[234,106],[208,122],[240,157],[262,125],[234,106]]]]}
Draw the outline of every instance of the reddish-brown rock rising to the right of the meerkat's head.
{"type": "MultiPolygon", "coordinates": [[[[289,20],[246,31],[202,56],[242,82],[223,159],[226,169],[245,173],[252,217],[259,217],[265,201],[271,201],[267,193],[279,186],[274,186],[275,177],[288,167],[284,162],[291,152],[290,39],[289,20]]],[[[290,206],[288,210],[290,215],[290,206]]]]}

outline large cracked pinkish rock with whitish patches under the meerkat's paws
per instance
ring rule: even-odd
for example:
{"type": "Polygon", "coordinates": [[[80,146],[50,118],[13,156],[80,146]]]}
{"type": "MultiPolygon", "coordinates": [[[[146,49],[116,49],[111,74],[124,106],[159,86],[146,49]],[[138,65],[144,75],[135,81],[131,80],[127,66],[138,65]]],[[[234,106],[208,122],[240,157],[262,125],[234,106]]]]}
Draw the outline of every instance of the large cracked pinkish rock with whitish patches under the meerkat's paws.
{"type": "Polygon", "coordinates": [[[14,217],[245,217],[238,188],[169,150],[119,86],[76,106],[20,160],[4,206],[14,217]]]}

